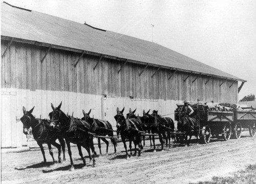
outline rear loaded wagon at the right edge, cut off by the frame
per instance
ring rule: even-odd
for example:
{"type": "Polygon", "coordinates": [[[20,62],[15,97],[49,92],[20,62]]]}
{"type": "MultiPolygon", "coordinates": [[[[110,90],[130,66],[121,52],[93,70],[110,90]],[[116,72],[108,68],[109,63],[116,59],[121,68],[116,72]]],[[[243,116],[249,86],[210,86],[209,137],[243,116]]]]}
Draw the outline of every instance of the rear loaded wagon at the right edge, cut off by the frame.
{"type": "Polygon", "coordinates": [[[249,128],[250,136],[254,137],[256,132],[256,111],[250,109],[243,111],[234,111],[233,113],[233,137],[235,139],[239,139],[241,137],[242,128],[249,128]]]}

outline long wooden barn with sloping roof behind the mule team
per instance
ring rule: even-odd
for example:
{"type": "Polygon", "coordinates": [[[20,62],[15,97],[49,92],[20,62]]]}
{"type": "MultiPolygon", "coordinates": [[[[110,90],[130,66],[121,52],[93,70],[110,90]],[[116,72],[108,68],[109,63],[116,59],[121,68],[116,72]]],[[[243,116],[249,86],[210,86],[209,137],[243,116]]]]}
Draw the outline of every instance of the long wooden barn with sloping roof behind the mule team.
{"type": "Polygon", "coordinates": [[[48,118],[62,101],[65,113],[92,109],[115,126],[117,107],[174,118],[184,99],[238,103],[246,82],[153,42],[7,3],[1,25],[2,148],[29,146],[23,106],[48,118]]]}

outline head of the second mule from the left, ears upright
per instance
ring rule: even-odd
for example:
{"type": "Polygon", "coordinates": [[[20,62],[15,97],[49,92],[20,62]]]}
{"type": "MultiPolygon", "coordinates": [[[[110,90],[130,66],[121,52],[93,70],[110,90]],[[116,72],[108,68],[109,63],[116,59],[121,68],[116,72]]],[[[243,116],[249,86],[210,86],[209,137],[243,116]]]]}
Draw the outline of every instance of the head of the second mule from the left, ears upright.
{"type": "MultiPolygon", "coordinates": [[[[56,108],[54,108],[53,104],[51,103],[52,110],[53,110],[51,113],[49,113],[51,128],[59,128],[60,127],[60,117],[61,117],[61,114],[63,114],[62,111],[60,110],[61,103],[62,103],[62,101],[60,102],[59,106],[56,108]]],[[[65,116],[66,116],[66,114],[65,114],[65,116]]]]}

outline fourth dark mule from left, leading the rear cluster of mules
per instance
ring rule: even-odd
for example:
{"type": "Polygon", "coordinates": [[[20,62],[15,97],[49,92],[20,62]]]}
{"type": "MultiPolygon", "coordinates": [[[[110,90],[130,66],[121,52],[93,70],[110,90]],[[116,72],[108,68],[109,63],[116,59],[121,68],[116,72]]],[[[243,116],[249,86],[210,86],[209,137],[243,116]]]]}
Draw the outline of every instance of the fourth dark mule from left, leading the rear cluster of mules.
{"type": "Polygon", "coordinates": [[[119,111],[119,108],[117,108],[117,115],[115,115],[115,120],[116,120],[116,127],[117,127],[117,136],[119,134],[121,135],[121,139],[123,142],[123,146],[125,148],[126,152],[126,159],[129,159],[129,154],[127,152],[127,147],[126,147],[126,140],[129,140],[130,142],[130,154],[132,156],[132,142],[134,142],[135,145],[135,151],[134,154],[137,154],[137,149],[136,146],[138,145],[139,148],[139,153],[138,156],[140,156],[141,153],[141,145],[140,145],[140,138],[141,138],[141,125],[138,122],[137,119],[125,119],[123,116],[123,111],[119,111]]]}

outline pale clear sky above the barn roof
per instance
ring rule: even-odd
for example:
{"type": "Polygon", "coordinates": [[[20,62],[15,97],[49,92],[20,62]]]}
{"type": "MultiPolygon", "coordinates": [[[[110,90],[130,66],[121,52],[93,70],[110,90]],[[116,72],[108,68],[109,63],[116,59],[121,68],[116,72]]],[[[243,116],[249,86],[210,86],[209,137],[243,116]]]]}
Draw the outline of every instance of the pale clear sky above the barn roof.
{"type": "Polygon", "coordinates": [[[79,23],[86,21],[100,29],[153,41],[246,80],[239,99],[249,94],[256,95],[255,0],[5,2],[79,23]]]}

